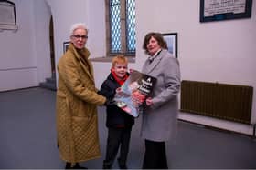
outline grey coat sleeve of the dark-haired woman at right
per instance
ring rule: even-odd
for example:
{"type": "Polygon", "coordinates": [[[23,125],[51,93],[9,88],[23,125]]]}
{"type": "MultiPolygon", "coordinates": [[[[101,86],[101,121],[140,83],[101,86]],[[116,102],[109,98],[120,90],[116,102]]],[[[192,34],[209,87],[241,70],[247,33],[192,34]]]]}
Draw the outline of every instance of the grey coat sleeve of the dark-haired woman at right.
{"type": "Polygon", "coordinates": [[[180,89],[180,69],[178,61],[173,57],[166,57],[163,68],[164,85],[162,91],[153,98],[152,108],[159,107],[165,102],[172,100],[179,93],[180,89]],[[168,69],[165,69],[168,68],[168,69]]]}

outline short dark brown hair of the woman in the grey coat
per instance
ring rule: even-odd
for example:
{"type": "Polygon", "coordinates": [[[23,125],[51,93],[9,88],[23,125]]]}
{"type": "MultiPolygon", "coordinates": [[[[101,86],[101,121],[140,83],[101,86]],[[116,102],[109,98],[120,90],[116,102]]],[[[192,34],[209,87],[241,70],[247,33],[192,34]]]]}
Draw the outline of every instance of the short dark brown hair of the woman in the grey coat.
{"type": "Polygon", "coordinates": [[[148,53],[146,45],[148,45],[151,37],[154,37],[156,39],[156,41],[158,42],[158,45],[160,45],[164,49],[167,49],[167,44],[165,42],[164,37],[160,33],[151,32],[144,36],[143,49],[146,54],[148,53]]]}

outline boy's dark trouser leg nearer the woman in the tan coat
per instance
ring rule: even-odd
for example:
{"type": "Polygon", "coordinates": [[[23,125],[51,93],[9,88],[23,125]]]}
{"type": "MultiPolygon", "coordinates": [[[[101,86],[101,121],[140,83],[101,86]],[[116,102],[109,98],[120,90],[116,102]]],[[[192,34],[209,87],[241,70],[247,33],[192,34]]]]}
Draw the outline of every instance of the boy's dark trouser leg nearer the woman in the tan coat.
{"type": "Polygon", "coordinates": [[[110,169],[112,167],[112,163],[117,155],[120,145],[120,134],[120,129],[109,128],[106,158],[103,162],[103,168],[105,169],[110,169]]]}

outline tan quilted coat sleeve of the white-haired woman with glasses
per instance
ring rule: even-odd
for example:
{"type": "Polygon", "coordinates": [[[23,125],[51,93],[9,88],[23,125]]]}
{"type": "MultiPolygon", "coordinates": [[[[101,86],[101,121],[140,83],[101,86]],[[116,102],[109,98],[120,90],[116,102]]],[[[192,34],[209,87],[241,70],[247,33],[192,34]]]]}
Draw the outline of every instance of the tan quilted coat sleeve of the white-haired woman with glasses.
{"type": "Polygon", "coordinates": [[[71,57],[62,57],[59,61],[58,71],[59,76],[63,80],[64,84],[69,88],[69,90],[81,100],[94,104],[103,105],[106,98],[102,95],[98,95],[95,90],[94,82],[89,77],[83,77],[88,80],[88,84],[85,85],[81,81],[78,62],[74,61],[71,57]]]}

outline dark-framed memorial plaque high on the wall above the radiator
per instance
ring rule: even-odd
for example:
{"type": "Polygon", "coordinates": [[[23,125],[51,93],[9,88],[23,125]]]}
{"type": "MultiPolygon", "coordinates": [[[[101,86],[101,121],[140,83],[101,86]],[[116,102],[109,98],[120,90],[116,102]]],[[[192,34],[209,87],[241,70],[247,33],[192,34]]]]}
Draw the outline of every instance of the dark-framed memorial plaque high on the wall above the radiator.
{"type": "Polygon", "coordinates": [[[200,22],[251,17],[252,0],[200,0],[200,22]]]}

